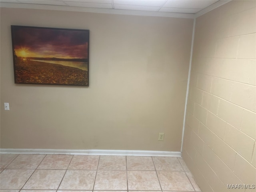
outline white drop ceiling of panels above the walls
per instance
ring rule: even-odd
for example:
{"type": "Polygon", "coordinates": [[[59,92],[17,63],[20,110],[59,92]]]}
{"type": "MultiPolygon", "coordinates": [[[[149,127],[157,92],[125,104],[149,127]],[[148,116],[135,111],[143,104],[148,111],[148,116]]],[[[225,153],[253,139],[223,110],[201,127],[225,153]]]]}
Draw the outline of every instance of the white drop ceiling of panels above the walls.
{"type": "Polygon", "coordinates": [[[0,6],[16,7],[22,5],[22,8],[39,8],[46,6],[50,9],[64,8],[73,9],[79,8],[105,11],[136,11],[150,12],[153,15],[158,13],[178,13],[178,14],[196,14],[209,6],[222,4],[225,0],[0,0],[0,6]],[[8,6],[7,6],[8,5],[8,6]]]}

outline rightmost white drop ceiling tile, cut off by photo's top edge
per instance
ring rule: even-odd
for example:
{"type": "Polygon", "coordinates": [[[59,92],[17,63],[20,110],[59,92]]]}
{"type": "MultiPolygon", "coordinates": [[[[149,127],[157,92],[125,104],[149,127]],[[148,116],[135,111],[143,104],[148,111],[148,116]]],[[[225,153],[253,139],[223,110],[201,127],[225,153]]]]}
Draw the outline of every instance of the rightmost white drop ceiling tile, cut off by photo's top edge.
{"type": "Polygon", "coordinates": [[[163,7],[203,9],[218,0],[168,0],[163,7]]]}

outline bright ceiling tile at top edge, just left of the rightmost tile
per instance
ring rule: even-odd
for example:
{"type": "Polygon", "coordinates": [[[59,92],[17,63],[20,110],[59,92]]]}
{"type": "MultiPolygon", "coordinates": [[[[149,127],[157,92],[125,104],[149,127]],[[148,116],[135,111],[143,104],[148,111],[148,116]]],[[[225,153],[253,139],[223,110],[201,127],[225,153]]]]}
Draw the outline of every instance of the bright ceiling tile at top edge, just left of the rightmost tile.
{"type": "Polygon", "coordinates": [[[114,0],[114,4],[138,6],[162,6],[166,0],[114,0]]]}

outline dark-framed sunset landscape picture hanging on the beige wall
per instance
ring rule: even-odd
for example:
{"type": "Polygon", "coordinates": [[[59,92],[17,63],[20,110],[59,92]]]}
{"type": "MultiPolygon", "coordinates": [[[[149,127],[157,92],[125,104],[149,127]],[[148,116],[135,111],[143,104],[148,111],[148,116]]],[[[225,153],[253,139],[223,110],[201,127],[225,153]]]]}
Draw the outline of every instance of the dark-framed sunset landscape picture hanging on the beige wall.
{"type": "Polygon", "coordinates": [[[89,86],[89,30],[11,30],[15,83],[89,86]]]}

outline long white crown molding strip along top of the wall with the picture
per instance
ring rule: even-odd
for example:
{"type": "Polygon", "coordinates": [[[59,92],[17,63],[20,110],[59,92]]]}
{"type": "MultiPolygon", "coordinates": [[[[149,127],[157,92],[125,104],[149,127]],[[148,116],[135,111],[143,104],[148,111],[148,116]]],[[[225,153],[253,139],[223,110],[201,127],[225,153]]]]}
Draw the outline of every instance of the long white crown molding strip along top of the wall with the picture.
{"type": "Polygon", "coordinates": [[[186,13],[167,13],[167,12],[153,12],[153,11],[117,10],[117,9],[103,9],[103,8],[84,8],[84,7],[72,7],[72,6],[22,4],[22,3],[6,3],[6,2],[1,2],[0,7],[41,9],[41,10],[59,10],[59,11],[76,11],[76,12],[91,12],[91,13],[105,13],[105,14],[122,14],[122,15],[136,15],[136,16],[194,18],[194,14],[186,14],[186,13]]]}

